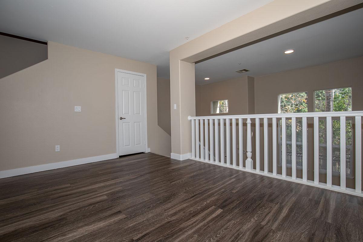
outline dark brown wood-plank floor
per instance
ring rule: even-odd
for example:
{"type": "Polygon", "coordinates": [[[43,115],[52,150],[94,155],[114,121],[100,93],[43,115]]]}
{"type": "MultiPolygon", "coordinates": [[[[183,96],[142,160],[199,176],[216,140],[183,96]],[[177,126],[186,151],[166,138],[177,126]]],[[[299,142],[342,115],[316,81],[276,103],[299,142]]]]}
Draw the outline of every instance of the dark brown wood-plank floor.
{"type": "Polygon", "coordinates": [[[363,241],[363,198],[152,153],[0,180],[0,241],[363,241]]]}

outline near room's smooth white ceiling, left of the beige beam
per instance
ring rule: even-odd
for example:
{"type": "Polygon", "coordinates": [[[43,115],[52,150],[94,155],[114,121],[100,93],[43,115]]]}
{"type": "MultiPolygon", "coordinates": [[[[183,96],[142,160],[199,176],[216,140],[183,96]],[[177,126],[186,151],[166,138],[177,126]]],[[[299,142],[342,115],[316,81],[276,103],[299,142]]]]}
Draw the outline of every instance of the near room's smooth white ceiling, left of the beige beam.
{"type": "Polygon", "coordinates": [[[272,0],[0,0],[0,32],[158,65],[169,51],[272,0]]]}

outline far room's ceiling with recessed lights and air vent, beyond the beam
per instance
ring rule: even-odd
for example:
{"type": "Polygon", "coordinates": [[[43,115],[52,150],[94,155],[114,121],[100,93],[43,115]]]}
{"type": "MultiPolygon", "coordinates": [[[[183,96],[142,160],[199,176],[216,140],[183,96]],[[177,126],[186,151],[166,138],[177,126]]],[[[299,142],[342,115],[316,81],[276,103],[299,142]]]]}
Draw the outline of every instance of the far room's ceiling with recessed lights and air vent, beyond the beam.
{"type": "Polygon", "coordinates": [[[258,77],[359,56],[363,56],[363,9],[197,63],[195,81],[204,85],[244,75],[258,77]],[[287,49],[295,52],[286,55],[287,49]],[[241,69],[250,71],[235,72],[241,69]]]}

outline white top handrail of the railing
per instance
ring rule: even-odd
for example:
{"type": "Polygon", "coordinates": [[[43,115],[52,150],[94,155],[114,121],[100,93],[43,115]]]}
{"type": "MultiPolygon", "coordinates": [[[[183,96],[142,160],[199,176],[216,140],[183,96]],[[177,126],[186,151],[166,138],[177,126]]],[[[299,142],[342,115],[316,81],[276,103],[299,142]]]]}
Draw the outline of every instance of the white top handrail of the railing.
{"type": "Polygon", "coordinates": [[[246,118],[313,118],[313,117],[340,117],[340,116],[363,116],[363,111],[347,112],[297,112],[289,114],[244,114],[244,115],[215,115],[215,116],[188,116],[193,119],[246,119],[246,118]]]}

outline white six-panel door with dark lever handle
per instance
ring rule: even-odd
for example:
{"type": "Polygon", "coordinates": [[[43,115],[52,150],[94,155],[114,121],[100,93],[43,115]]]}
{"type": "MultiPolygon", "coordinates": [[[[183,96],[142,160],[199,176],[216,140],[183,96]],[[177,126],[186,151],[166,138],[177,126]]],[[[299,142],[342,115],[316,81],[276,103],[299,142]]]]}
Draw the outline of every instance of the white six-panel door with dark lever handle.
{"type": "Polygon", "coordinates": [[[119,155],[145,152],[144,77],[117,72],[119,155]]]}

